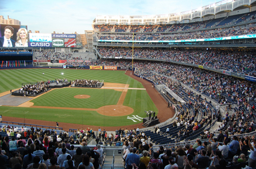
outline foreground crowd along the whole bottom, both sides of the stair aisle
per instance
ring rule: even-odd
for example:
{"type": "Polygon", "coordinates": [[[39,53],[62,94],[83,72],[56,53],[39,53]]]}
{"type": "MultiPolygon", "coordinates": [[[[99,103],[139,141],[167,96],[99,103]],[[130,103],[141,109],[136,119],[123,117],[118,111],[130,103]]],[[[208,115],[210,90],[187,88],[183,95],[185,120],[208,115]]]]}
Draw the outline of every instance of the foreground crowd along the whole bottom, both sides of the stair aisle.
{"type": "MultiPolygon", "coordinates": [[[[186,123],[176,123],[175,125],[187,125],[191,118],[181,117],[181,120],[189,120],[186,123]]],[[[197,121],[191,121],[191,124],[200,126],[197,121]]],[[[250,124],[255,128],[255,124],[250,124]]],[[[189,130],[189,129],[188,129],[189,130]]],[[[191,129],[193,130],[193,129],[191,129]]],[[[116,129],[115,133],[107,133],[105,130],[98,129],[99,135],[95,135],[90,128],[87,130],[77,129],[72,136],[68,132],[59,132],[54,130],[42,130],[33,127],[27,128],[4,126],[1,132],[6,132],[8,136],[1,136],[1,166],[14,168],[20,165],[22,168],[37,168],[40,165],[46,165],[46,168],[80,168],[80,165],[100,168],[103,160],[102,145],[122,146],[123,159],[126,168],[129,165],[144,165],[145,168],[226,168],[226,166],[243,165],[248,159],[250,167],[255,167],[256,163],[251,160],[253,155],[248,157],[248,150],[254,150],[254,136],[237,137],[225,133],[214,136],[214,134],[205,131],[208,142],[202,142],[199,138],[191,144],[177,147],[160,146],[153,147],[153,140],[139,128],[133,130],[116,129]],[[88,139],[93,136],[97,146],[93,150],[87,146],[88,139]],[[220,143],[223,144],[220,144],[220,143]],[[74,145],[81,145],[76,150],[74,145]],[[131,154],[138,160],[131,162],[131,154]],[[7,163],[9,159],[9,164],[7,163]],[[90,160],[92,159],[92,160],[90,160]],[[89,162],[86,162],[89,160],[89,162]]],[[[158,133],[156,127],[155,133],[158,133]]],[[[158,133],[159,134],[159,133],[158,133]]],[[[252,152],[251,154],[254,154],[252,152]]]]}

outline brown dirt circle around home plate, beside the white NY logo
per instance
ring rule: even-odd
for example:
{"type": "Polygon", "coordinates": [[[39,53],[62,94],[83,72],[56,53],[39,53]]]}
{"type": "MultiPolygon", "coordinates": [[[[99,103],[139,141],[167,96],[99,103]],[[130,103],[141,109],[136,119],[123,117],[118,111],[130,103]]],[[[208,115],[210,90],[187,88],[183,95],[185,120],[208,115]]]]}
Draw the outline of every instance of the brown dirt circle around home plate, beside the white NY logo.
{"type": "Polygon", "coordinates": [[[97,112],[104,116],[126,116],[133,111],[133,108],[124,105],[107,105],[97,109],[97,112]]]}

